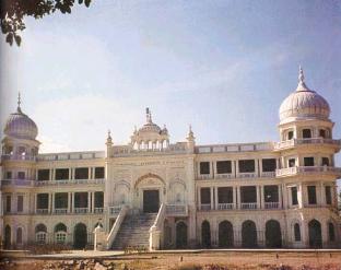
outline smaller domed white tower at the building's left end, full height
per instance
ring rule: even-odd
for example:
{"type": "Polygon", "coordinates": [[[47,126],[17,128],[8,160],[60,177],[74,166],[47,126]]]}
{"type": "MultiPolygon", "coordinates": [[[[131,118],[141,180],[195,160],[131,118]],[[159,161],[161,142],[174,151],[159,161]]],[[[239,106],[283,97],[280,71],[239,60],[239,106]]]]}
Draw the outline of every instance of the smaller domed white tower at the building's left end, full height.
{"type": "Polygon", "coordinates": [[[23,245],[27,242],[27,230],[33,204],[35,161],[39,142],[35,122],[21,109],[20,95],[17,109],[4,125],[1,155],[1,193],[3,202],[3,244],[23,245]]]}

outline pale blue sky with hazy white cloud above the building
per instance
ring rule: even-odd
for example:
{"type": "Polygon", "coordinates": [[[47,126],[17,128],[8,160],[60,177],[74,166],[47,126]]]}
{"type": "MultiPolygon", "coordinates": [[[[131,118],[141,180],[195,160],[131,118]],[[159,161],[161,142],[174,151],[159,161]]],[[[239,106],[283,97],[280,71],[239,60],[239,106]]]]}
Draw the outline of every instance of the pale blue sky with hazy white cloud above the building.
{"type": "Polygon", "coordinates": [[[127,143],[145,107],[172,142],[189,124],[198,144],[278,141],[299,64],[341,138],[340,1],[93,0],[25,22],[20,48],[0,34],[0,119],[21,91],[40,152],[127,143]]]}

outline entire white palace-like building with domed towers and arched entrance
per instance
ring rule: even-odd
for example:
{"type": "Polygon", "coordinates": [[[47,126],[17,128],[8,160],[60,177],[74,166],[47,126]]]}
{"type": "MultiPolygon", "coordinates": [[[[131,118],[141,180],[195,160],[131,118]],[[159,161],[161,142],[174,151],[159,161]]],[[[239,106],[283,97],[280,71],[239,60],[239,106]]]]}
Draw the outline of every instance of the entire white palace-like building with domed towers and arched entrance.
{"type": "Polygon", "coordinates": [[[170,143],[146,109],[127,145],[108,133],[105,151],[39,154],[37,126],[19,101],[3,130],[2,243],[338,247],[341,141],[329,115],[301,70],[280,107],[279,142],[197,145],[190,128],[170,143]]]}

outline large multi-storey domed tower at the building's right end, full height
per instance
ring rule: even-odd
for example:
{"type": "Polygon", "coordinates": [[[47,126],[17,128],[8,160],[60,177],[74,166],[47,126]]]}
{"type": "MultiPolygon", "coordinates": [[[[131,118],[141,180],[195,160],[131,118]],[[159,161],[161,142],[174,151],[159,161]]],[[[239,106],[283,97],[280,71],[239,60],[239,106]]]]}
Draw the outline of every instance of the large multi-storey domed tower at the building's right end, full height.
{"type": "Polygon", "coordinates": [[[341,237],[336,185],[341,171],[334,167],[341,141],[332,138],[329,116],[328,102],[308,89],[299,68],[297,89],[280,107],[281,141],[275,145],[292,247],[336,247],[341,237]]]}

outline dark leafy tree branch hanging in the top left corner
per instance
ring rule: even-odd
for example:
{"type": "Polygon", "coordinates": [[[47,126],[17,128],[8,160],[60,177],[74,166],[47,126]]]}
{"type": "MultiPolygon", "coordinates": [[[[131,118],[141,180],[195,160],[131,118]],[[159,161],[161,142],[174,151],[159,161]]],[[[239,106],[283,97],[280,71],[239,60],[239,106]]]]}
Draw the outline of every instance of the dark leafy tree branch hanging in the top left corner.
{"type": "Polygon", "coordinates": [[[20,46],[19,33],[25,28],[24,16],[42,19],[56,11],[71,13],[75,1],[86,8],[91,3],[91,0],[0,0],[0,24],[5,42],[11,46],[15,42],[20,46]]]}

